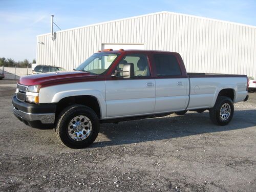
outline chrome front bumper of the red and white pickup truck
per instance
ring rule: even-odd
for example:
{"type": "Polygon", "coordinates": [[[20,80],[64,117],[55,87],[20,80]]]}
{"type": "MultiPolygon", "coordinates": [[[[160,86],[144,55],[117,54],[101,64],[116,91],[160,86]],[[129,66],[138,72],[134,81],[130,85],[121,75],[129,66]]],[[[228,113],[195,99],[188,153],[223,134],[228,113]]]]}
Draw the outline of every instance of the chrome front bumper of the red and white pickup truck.
{"type": "Polygon", "coordinates": [[[13,105],[12,110],[20,118],[29,121],[40,121],[43,124],[53,124],[55,121],[55,113],[26,113],[16,109],[13,105]]]}

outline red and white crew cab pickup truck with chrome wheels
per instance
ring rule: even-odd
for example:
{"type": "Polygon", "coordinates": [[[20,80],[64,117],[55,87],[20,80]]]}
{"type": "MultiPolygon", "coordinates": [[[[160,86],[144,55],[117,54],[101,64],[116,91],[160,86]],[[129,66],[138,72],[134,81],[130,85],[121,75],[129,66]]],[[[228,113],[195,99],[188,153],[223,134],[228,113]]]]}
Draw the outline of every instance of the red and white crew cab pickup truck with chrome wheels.
{"type": "Polygon", "coordinates": [[[246,75],[187,73],[179,53],[109,49],[73,71],[20,78],[12,104],[25,124],[55,127],[63,144],[82,148],[106,122],[209,110],[213,123],[226,125],[247,89],[246,75]]]}

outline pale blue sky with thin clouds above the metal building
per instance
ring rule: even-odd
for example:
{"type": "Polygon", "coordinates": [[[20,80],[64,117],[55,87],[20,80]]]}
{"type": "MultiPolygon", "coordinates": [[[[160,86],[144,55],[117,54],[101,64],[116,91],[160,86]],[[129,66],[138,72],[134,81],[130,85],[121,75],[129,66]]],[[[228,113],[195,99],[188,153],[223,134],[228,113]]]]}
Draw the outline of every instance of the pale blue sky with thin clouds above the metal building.
{"type": "Polygon", "coordinates": [[[0,0],[0,57],[36,58],[36,36],[51,32],[51,15],[61,30],[160,11],[256,26],[255,10],[255,0],[0,0]]]}

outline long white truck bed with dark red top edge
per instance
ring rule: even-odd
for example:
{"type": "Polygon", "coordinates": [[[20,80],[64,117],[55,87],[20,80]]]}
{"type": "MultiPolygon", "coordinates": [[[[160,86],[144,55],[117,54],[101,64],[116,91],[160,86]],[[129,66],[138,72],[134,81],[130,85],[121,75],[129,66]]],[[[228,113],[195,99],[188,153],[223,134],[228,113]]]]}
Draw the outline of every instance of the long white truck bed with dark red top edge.
{"type": "Polygon", "coordinates": [[[244,100],[247,95],[246,75],[215,73],[187,73],[189,77],[189,104],[187,109],[212,108],[222,89],[236,90],[233,102],[244,100]]]}

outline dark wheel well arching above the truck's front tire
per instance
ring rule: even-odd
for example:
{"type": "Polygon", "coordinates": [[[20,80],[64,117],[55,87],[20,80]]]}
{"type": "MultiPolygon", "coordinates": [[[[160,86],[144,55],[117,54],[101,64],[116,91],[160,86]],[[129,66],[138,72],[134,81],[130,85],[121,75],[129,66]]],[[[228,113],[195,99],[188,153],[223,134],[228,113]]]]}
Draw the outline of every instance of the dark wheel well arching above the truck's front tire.
{"type": "Polygon", "coordinates": [[[82,104],[88,106],[97,114],[100,119],[100,106],[98,100],[96,97],[90,95],[72,96],[61,99],[57,103],[56,117],[63,109],[72,104],[82,104]]]}

